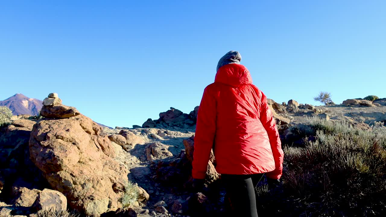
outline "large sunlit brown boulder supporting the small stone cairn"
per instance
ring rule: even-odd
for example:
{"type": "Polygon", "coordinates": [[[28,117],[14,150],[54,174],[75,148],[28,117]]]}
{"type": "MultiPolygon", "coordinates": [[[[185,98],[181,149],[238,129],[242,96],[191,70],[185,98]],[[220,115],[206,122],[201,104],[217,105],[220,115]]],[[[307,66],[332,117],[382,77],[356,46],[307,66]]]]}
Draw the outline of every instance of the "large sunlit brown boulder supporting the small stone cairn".
{"type": "Polygon", "coordinates": [[[113,160],[115,152],[107,136],[90,118],[42,119],[34,125],[30,158],[54,190],[63,193],[72,209],[99,216],[120,205],[120,192],[128,171],[113,160]]]}

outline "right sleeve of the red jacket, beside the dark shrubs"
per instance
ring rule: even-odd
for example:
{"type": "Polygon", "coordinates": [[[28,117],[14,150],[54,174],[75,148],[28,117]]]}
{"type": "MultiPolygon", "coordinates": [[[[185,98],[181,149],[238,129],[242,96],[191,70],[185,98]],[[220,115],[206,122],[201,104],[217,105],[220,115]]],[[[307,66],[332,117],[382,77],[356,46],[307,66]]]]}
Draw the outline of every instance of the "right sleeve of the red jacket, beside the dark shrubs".
{"type": "Polygon", "coordinates": [[[278,129],[276,128],[276,121],[272,115],[271,109],[268,107],[267,97],[262,92],[261,95],[260,121],[268,133],[276,167],[274,171],[266,173],[266,176],[271,179],[279,179],[283,173],[284,153],[283,149],[281,149],[281,141],[278,129]]]}

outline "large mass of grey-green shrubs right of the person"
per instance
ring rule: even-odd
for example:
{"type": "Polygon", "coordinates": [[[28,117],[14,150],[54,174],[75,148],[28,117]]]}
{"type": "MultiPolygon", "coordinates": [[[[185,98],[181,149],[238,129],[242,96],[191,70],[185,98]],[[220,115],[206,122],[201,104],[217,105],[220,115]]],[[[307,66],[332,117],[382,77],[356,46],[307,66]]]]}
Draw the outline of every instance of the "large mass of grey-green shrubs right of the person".
{"type": "Polygon", "coordinates": [[[264,188],[258,189],[259,210],[274,210],[274,216],[384,216],[383,124],[362,131],[346,123],[310,118],[291,132],[316,141],[284,146],[283,185],[269,193],[265,186],[259,187],[264,188]]]}

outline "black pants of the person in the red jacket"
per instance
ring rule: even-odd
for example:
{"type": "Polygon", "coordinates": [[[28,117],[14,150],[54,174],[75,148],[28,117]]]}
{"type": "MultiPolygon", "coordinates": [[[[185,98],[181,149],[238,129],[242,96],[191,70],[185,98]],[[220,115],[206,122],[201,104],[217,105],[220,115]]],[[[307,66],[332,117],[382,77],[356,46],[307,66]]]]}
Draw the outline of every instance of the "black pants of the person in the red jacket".
{"type": "Polygon", "coordinates": [[[229,200],[229,216],[257,217],[255,187],[263,175],[221,174],[229,200]]]}

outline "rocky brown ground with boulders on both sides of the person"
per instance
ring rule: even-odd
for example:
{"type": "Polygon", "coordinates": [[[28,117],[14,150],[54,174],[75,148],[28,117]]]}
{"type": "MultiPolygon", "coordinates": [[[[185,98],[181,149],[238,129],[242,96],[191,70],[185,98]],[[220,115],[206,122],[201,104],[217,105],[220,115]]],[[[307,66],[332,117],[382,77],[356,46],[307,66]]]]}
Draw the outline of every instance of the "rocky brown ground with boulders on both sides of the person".
{"type": "MultiPolygon", "coordinates": [[[[198,107],[171,108],[133,127],[101,127],[57,94],[42,102],[42,118],[15,116],[0,131],[0,216],[37,216],[39,210],[78,210],[84,216],[221,216],[225,192],[212,155],[205,188],[192,186],[191,162],[198,107]],[[138,198],[122,209],[128,183],[138,198]]],[[[309,117],[370,130],[386,123],[386,98],[302,105],[269,100],[281,139],[309,117]]],[[[295,141],[296,142],[296,141],[295,141]]]]}

